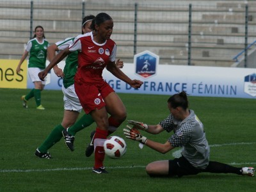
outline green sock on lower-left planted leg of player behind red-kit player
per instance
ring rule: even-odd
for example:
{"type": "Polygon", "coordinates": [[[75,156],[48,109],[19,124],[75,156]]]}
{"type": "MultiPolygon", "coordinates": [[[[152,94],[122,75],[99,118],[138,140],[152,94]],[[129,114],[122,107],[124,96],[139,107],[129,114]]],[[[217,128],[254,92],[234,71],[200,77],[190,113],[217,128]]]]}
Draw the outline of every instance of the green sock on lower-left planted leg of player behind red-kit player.
{"type": "Polygon", "coordinates": [[[50,135],[48,135],[48,137],[44,140],[42,145],[40,145],[40,147],[38,147],[38,150],[40,152],[47,152],[48,149],[50,149],[54,144],[56,144],[57,142],[59,142],[61,140],[63,130],[64,130],[64,128],[63,128],[63,126],[61,126],[61,124],[56,126],[52,130],[50,135]]]}

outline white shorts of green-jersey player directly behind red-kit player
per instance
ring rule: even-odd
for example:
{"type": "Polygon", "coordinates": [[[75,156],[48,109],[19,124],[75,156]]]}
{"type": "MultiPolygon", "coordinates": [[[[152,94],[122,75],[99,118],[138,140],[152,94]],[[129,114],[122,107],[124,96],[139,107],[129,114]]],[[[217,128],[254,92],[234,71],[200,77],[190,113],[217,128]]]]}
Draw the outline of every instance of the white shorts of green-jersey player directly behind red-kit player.
{"type": "Polygon", "coordinates": [[[62,92],[64,94],[64,109],[74,110],[80,113],[83,110],[83,107],[81,106],[79,98],[76,95],[74,84],[70,85],[67,89],[62,85],[62,92]]]}

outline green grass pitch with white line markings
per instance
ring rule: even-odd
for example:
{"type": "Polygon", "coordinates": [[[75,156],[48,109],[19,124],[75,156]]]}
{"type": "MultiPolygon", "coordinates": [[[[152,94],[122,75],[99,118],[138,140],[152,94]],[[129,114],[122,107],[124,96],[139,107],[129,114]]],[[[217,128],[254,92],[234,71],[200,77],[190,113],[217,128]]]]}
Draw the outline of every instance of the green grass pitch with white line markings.
{"type": "MultiPolygon", "coordinates": [[[[125,138],[127,152],[120,159],[105,158],[109,174],[93,174],[93,156],[84,156],[95,124],[76,135],[74,152],[61,140],[49,151],[53,159],[34,156],[38,147],[60,124],[63,117],[61,91],[43,91],[42,105],[34,100],[22,107],[20,96],[26,89],[0,89],[0,191],[255,191],[255,177],[234,174],[198,174],[186,177],[150,178],[145,166],[161,159],[172,159],[173,152],[160,154],[125,138]]],[[[118,94],[127,108],[127,120],[157,124],[169,114],[169,96],[118,94]]],[[[189,96],[190,108],[204,123],[211,147],[211,160],[234,166],[256,166],[256,101],[237,98],[189,96]]],[[[83,113],[82,113],[83,114],[83,113]]],[[[114,135],[124,138],[122,129],[114,135]]],[[[166,142],[170,133],[143,134],[166,142]]]]}

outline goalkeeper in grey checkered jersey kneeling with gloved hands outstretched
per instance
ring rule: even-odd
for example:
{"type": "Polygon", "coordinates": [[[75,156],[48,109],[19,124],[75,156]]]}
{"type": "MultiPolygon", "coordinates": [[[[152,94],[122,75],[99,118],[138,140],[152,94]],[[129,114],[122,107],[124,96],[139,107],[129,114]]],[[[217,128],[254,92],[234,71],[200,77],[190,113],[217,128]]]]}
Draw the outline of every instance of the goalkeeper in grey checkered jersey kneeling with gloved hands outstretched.
{"type": "Polygon", "coordinates": [[[175,147],[182,147],[182,156],[172,160],[155,161],[146,167],[150,176],[196,175],[200,172],[225,173],[254,176],[253,167],[237,168],[224,163],[210,161],[210,147],[205,138],[204,124],[198,119],[193,110],[188,108],[188,97],[182,91],[168,99],[170,115],[157,125],[147,125],[143,122],[128,121],[132,125],[124,129],[126,138],[137,140],[141,144],[166,153],[175,147]],[[173,131],[165,144],[149,140],[138,130],[158,134],[162,131],[173,131]]]}

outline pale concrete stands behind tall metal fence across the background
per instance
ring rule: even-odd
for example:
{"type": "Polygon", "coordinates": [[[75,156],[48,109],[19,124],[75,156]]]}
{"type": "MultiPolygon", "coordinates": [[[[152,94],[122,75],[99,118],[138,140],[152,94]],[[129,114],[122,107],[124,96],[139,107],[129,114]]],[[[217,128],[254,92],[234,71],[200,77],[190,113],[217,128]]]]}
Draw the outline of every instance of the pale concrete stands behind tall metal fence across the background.
{"type": "Polygon", "coordinates": [[[256,68],[249,58],[255,54],[254,1],[103,2],[1,1],[0,58],[20,59],[37,25],[54,43],[80,34],[85,15],[104,11],[114,20],[111,38],[118,46],[117,56],[125,62],[132,63],[134,54],[150,50],[159,55],[160,64],[231,66],[243,61],[240,66],[256,68]]]}

